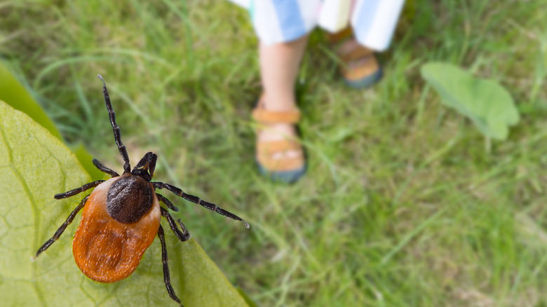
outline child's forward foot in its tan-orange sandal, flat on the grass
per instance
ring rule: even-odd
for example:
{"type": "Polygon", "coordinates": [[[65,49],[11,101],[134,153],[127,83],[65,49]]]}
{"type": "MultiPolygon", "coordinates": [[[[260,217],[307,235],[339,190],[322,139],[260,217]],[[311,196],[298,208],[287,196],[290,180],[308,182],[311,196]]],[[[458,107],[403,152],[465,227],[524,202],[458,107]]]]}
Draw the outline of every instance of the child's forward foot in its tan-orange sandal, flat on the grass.
{"type": "Polygon", "coordinates": [[[255,157],[259,171],[276,181],[295,182],[306,172],[304,149],[295,128],[300,112],[266,110],[264,98],[262,95],[252,111],[259,124],[255,157]]]}

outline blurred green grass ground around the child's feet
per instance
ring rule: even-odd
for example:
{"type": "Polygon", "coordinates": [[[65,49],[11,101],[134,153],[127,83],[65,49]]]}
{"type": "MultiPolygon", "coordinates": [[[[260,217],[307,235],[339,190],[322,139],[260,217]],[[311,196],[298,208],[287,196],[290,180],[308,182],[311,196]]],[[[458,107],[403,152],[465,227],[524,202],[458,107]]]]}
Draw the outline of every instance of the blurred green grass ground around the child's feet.
{"type": "Polygon", "coordinates": [[[385,77],[339,81],[323,34],[299,80],[309,172],[253,165],[257,41],[227,1],[0,3],[0,56],[69,142],[116,156],[109,85],[132,160],[252,224],[178,201],[180,217],[259,306],[546,306],[547,27],[541,1],[407,1],[385,77]],[[452,62],[502,83],[522,118],[490,151],[419,67],[452,62]]]}

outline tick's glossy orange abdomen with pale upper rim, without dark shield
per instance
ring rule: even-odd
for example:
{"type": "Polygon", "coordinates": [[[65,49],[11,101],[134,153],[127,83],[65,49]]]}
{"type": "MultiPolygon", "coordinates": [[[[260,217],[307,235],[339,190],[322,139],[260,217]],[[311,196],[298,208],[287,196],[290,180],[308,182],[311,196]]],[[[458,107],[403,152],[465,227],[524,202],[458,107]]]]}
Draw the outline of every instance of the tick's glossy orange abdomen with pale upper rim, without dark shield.
{"type": "Polygon", "coordinates": [[[76,265],[97,282],[116,282],[131,275],[158,233],[161,212],[155,193],[151,210],[136,223],[122,224],[107,212],[110,186],[126,176],[131,175],[114,177],[93,190],[72,241],[76,265]]]}

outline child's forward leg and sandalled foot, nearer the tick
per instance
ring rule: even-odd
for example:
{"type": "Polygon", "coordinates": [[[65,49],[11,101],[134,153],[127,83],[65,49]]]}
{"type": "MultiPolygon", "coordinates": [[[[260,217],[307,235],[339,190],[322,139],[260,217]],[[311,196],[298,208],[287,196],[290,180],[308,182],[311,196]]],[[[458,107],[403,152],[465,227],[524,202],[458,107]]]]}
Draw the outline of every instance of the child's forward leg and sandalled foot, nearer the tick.
{"type": "Polygon", "coordinates": [[[264,94],[253,111],[260,127],[255,158],[263,175],[285,183],[295,182],[306,172],[304,149],[295,130],[300,118],[295,81],[306,41],[305,36],[289,43],[259,46],[264,94]]]}

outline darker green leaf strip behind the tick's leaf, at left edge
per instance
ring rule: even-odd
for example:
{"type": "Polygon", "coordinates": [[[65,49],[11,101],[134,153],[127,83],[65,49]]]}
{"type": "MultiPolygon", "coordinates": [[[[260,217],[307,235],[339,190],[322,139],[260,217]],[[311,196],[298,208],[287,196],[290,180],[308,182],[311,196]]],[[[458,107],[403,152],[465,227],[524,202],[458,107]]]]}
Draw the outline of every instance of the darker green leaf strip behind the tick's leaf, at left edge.
{"type": "MultiPolygon", "coordinates": [[[[4,100],[11,107],[26,113],[36,123],[39,123],[46,128],[53,136],[62,141],[61,134],[55,124],[51,121],[46,112],[41,109],[32,96],[29,95],[24,86],[15,79],[11,72],[0,61],[0,100],[4,100]]],[[[103,174],[91,163],[93,159],[91,155],[83,148],[82,144],[74,146],[72,149],[79,158],[81,165],[93,177],[93,179],[102,179],[103,174]]]]}

